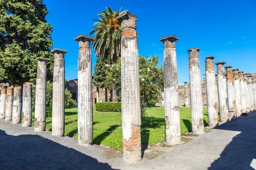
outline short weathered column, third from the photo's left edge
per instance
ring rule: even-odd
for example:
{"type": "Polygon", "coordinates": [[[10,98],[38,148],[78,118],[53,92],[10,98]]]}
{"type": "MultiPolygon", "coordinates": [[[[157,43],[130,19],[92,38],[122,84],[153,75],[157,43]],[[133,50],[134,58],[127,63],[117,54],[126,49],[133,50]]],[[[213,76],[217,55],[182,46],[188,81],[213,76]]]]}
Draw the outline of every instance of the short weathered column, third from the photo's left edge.
{"type": "Polygon", "coordinates": [[[22,88],[16,86],[13,90],[12,124],[21,123],[22,88]]]}

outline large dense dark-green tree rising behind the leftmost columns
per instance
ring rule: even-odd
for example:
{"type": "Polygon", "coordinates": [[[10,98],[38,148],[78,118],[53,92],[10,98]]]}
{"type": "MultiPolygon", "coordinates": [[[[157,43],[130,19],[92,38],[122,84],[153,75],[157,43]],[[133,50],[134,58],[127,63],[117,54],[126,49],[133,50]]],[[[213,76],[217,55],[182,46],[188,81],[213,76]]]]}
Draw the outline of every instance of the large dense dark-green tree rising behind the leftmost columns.
{"type": "Polygon", "coordinates": [[[50,59],[47,78],[52,79],[52,26],[42,1],[0,0],[0,82],[35,82],[37,57],[50,59]]]}

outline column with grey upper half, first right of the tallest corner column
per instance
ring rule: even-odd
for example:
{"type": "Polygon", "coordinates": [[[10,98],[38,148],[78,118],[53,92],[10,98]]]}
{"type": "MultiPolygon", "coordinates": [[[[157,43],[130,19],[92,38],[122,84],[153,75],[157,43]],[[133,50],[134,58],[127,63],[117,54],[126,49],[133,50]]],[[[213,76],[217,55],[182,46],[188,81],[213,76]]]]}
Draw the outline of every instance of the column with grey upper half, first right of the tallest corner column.
{"type": "MultiPolygon", "coordinates": [[[[177,80],[177,57],[175,41],[178,37],[170,35],[159,39],[163,45],[164,60],[164,102],[165,134],[168,146],[180,144],[180,109],[177,80]]],[[[187,85],[185,85],[187,86],[187,85]]],[[[187,91],[187,89],[186,89],[187,91]]],[[[187,92],[186,92],[187,93],[187,92]]],[[[185,94],[186,96],[186,94],[185,94]]]]}

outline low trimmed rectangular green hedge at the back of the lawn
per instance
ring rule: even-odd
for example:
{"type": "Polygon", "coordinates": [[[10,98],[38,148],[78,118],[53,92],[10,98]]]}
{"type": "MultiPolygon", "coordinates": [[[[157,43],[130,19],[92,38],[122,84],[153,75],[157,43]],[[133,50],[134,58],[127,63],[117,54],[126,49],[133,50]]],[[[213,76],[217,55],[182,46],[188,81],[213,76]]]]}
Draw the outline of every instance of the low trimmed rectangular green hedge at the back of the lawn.
{"type": "Polygon", "coordinates": [[[121,112],[121,102],[99,102],[96,103],[96,111],[121,112]]]}

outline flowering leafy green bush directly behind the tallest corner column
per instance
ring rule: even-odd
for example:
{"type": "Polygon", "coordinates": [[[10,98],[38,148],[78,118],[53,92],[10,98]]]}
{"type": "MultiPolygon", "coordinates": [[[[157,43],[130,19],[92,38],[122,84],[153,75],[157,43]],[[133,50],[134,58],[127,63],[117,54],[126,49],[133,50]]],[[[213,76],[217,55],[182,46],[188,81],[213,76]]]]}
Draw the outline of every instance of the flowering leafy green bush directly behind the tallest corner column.
{"type": "MultiPolygon", "coordinates": [[[[159,67],[159,56],[139,57],[141,114],[162,100],[163,68],[159,67]]],[[[121,88],[121,59],[116,64],[107,65],[106,80],[121,88]]]]}

